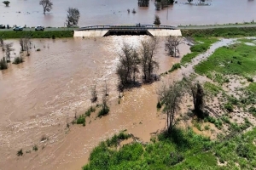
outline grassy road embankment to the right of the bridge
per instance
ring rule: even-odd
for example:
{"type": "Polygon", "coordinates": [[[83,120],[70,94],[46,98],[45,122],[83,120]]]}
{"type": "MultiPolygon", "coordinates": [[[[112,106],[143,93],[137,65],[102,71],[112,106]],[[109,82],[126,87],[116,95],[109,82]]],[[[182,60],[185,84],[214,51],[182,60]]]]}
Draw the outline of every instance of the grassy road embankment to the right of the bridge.
{"type": "Polygon", "coordinates": [[[256,27],[183,29],[183,37],[253,37],[256,27]]]}

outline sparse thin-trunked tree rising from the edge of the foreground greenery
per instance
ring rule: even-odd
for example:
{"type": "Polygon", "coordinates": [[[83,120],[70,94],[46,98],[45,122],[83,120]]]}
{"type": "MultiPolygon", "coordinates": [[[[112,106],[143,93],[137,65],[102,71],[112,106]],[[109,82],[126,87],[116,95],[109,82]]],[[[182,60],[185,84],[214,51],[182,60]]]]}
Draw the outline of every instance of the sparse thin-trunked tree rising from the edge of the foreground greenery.
{"type": "Polygon", "coordinates": [[[172,133],[173,127],[177,124],[177,114],[183,97],[182,82],[173,82],[169,86],[164,85],[160,88],[159,97],[161,103],[165,105],[164,111],[167,114],[167,131],[168,133],[172,133]]]}

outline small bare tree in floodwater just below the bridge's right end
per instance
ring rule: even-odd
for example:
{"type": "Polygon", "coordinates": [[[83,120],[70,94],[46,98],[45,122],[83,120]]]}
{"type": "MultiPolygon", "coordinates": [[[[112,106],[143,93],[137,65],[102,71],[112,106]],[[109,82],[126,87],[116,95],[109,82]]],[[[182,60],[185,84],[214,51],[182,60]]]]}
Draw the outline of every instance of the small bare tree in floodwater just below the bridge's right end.
{"type": "Polygon", "coordinates": [[[174,36],[169,36],[166,38],[166,48],[169,55],[176,57],[177,54],[179,54],[178,45],[180,44],[181,40],[181,37],[174,36]]]}

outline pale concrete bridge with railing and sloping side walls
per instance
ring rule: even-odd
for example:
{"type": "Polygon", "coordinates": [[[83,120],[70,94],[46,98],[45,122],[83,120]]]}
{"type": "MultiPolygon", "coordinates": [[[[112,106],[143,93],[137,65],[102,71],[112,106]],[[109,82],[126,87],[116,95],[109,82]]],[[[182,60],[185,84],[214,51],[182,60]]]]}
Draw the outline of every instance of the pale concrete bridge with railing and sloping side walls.
{"type": "Polygon", "coordinates": [[[119,25],[119,26],[85,26],[74,31],[73,37],[106,37],[112,35],[148,35],[148,36],[182,36],[174,26],[155,25],[119,25]]]}

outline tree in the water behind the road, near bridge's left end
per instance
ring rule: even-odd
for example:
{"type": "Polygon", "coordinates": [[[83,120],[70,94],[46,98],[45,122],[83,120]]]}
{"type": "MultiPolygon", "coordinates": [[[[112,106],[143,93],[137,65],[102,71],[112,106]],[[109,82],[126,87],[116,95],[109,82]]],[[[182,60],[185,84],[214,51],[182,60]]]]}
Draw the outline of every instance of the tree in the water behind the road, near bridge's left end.
{"type": "Polygon", "coordinates": [[[67,27],[78,26],[80,18],[80,13],[78,8],[68,8],[67,9],[67,27]]]}

